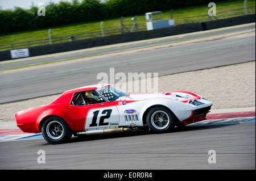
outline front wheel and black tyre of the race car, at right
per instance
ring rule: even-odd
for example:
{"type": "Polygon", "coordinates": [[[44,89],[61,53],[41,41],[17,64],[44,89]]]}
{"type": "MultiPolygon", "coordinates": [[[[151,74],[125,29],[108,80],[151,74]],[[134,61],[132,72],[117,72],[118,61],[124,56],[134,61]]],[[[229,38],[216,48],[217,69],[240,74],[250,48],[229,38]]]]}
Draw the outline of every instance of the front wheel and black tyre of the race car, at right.
{"type": "Polygon", "coordinates": [[[166,107],[153,107],[147,113],[148,127],[155,133],[166,133],[175,127],[175,116],[166,107]]]}

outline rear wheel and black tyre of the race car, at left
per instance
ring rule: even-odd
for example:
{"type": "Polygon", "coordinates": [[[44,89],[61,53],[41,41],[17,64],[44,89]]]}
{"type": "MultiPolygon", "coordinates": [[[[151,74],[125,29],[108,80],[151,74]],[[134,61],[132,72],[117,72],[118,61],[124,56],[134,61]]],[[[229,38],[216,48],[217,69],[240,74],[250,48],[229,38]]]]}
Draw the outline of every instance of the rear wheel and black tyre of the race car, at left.
{"type": "Polygon", "coordinates": [[[57,116],[46,119],[41,130],[44,140],[53,145],[63,144],[72,136],[71,128],[63,119],[57,116]]]}

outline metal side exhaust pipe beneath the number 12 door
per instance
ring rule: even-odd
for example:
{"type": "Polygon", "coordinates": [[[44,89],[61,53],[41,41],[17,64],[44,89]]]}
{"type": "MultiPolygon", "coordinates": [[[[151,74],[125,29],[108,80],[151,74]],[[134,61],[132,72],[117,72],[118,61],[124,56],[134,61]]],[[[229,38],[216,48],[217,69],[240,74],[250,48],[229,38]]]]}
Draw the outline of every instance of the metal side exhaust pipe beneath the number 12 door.
{"type": "Polygon", "coordinates": [[[95,129],[84,132],[77,132],[77,136],[81,135],[94,135],[94,134],[112,134],[112,133],[124,133],[131,132],[130,128],[109,128],[109,129],[95,129]]]}

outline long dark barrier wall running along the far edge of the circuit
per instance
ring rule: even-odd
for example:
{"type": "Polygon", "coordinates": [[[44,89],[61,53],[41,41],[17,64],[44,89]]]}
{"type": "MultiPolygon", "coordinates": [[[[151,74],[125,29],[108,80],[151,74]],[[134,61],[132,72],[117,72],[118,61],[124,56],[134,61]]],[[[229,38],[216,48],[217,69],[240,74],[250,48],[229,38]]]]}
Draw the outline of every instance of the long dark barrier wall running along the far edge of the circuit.
{"type": "MultiPolygon", "coordinates": [[[[38,47],[30,47],[30,56],[39,56],[43,54],[67,52],[71,50],[84,49],[90,47],[98,47],[102,45],[110,45],[116,43],[124,43],[129,41],[138,41],[145,39],[153,39],[157,37],[179,35],[183,33],[212,30],[216,28],[235,26],[238,24],[246,24],[255,22],[255,14],[253,15],[244,15],[237,16],[233,18],[213,20],[210,22],[203,23],[189,23],[181,24],[175,27],[162,28],[158,30],[150,31],[139,31],[133,33],[126,33],[121,35],[112,35],[105,37],[96,37],[93,39],[85,39],[78,41],[69,41],[61,44],[52,44],[52,45],[42,45],[38,47]]],[[[11,54],[10,50],[0,52],[0,61],[10,60],[11,54]]]]}

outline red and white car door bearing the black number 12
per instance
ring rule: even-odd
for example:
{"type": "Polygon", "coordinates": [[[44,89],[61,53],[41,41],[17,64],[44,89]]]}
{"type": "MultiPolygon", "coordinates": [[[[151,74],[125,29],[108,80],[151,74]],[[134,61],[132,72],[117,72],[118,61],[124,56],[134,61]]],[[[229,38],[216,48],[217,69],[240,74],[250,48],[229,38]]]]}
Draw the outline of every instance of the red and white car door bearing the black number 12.
{"type": "Polygon", "coordinates": [[[114,128],[119,125],[119,112],[111,102],[85,106],[68,104],[67,110],[77,131],[114,128]]]}

